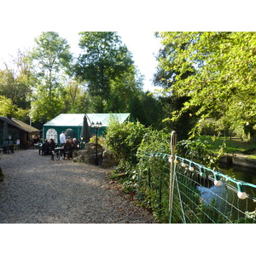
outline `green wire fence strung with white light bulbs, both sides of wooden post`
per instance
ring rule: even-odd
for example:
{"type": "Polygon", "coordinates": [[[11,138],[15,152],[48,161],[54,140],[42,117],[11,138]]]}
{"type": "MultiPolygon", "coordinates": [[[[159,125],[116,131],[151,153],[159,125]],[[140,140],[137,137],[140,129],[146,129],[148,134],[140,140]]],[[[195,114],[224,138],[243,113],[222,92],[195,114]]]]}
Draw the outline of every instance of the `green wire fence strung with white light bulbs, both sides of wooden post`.
{"type": "Polygon", "coordinates": [[[256,185],[177,155],[153,153],[146,157],[149,165],[140,163],[138,195],[160,223],[256,222],[256,185]]]}

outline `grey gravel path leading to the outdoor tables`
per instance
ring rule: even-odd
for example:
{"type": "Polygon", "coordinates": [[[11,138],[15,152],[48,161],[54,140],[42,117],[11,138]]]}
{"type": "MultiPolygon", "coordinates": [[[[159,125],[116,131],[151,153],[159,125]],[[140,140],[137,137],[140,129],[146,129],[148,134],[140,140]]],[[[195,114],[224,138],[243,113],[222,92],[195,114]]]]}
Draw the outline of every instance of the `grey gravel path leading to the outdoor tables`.
{"type": "Polygon", "coordinates": [[[50,160],[38,150],[1,154],[0,223],[154,223],[108,178],[109,169],[50,160]]]}

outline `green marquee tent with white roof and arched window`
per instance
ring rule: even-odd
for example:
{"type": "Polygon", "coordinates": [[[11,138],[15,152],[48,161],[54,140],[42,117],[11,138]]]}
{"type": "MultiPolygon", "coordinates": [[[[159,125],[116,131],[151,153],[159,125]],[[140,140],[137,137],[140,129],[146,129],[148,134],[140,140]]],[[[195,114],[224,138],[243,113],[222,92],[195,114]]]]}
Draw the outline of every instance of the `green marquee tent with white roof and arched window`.
{"type": "MultiPolygon", "coordinates": [[[[135,122],[131,113],[86,113],[87,122],[90,123],[102,122],[102,128],[98,131],[98,135],[106,130],[111,117],[118,119],[120,123],[125,121],[135,122]]],[[[43,139],[53,138],[55,142],[60,143],[60,134],[62,131],[67,132],[67,137],[80,138],[83,127],[84,113],[61,113],[54,119],[43,125],[43,139]]],[[[90,128],[90,134],[95,134],[96,131],[90,128]]]]}

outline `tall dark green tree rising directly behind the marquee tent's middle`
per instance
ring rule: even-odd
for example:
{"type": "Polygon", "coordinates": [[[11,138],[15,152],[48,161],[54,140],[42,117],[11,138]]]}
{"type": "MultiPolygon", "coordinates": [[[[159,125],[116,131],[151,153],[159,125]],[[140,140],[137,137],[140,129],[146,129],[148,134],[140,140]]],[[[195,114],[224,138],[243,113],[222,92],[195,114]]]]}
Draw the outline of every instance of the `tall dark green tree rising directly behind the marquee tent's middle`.
{"type": "Polygon", "coordinates": [[[116,32],[79,32],[79,35],[79,47],[84,53],[79,55],[76,77],[86,82],[96,112],[103,112],[111,84],[131,72],[131,53],[116,32]]]}

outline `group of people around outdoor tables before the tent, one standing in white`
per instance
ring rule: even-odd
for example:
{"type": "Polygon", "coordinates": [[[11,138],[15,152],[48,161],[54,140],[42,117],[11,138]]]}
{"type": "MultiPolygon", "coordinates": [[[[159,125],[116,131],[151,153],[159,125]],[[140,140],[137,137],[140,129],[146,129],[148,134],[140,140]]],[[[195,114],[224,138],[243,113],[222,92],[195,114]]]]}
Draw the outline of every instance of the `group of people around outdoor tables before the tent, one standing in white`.
{"type": "MultiPolygon", "coordinates": [[[[64,156],[66,155],[67,158],[69,159],[73,157],[73,152],[79,149],[80,142],[76,138],[73,138],[73,139],[66,138],[66,133],[62,131],[60,135],[60,143],[61,143],[61,148],[64,149],[64,156]]],[[[42,145],[43,154],[50,154],[50,152],[54,151],[56,147],[57,147],[57,144],[55,143],[53,138],[51,138],[49,142],[47,139],[45,139],[42,145]]]]}

